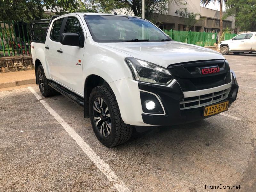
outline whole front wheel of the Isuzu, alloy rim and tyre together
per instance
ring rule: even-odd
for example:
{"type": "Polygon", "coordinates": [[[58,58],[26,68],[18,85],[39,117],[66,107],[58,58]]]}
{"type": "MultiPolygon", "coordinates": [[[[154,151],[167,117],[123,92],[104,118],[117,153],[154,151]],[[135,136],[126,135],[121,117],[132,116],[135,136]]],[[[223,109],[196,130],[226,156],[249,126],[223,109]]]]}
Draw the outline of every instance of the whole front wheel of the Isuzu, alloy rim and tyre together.
{"type": "Polygon", "coordinates": [[[98,86],[92,90],[89,113],[93,131],[105,146],[114,147],[130,139],[133,126],[122,120],[116,97],[109,87],[98,86]]]}

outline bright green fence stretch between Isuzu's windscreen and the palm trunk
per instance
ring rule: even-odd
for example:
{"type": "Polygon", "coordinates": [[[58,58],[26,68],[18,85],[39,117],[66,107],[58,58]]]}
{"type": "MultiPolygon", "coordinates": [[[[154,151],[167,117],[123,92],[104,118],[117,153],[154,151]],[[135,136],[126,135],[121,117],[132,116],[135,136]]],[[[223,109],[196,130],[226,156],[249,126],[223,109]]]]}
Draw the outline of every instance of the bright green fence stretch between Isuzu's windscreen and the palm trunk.
{"type": "Polygon", "coordinates": [[[192,31],[175,31],[164,30],[174,41],[183,43],[199,45],[199,46],[213,46],[216,43],[217,33],[192,32],[192,31]]]}

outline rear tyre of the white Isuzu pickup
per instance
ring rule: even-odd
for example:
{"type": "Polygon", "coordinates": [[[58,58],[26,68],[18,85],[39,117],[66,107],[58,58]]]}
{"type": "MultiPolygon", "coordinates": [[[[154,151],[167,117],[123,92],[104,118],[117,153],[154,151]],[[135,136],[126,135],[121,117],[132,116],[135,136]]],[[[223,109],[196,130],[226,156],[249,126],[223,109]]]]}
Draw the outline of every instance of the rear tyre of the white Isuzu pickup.
{"type": "Polygon", "coordinates": [[[52,87],[48,85],[49,80],[45,76],[44,68],[42,65],[38,66],[36,78],[37,78],[40,92],[44,97],[50,97],[57,93],[57,91],[55,91],[52,87]],[[40,79],[42,79],[42,81],[40,79]],[[44,88],[41,86],[41,82],[43,82],[44,88]]]}

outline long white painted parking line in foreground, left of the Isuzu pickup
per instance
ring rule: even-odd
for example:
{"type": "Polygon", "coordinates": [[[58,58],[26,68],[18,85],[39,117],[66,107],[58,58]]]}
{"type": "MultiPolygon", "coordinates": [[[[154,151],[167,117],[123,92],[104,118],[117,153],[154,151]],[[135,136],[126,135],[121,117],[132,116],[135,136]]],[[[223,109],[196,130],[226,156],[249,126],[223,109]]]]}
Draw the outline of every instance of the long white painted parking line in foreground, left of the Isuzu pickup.
{"type": "MultiPolygon", "coordinates": [[[[42,97],[38,95],[32,87],[28,89],[40,100],[42,97]]],[[[54,111],[45,100],[40,100],[40,103],[50,112],[50,114],[62,125],[68,134],[76,141],[84,153],[91,159],[91,161],[98,167],[98,169],[114,184],[119,192],[130,191],[123,181],[121,181],[116,174],[110,169],[109,165],[105,163],[100,156],[98,156],[92,148],[76,133],[76,131],[62,119],[59,114],[54,111]]]]}

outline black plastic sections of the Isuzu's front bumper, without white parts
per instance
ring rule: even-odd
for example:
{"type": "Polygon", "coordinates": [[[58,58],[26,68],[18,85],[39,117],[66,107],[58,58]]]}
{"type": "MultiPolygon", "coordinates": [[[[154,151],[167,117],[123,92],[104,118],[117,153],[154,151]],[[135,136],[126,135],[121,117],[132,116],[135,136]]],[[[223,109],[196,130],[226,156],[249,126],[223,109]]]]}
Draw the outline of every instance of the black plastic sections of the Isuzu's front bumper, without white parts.
{"type": "MultiPolygon", "coordinates": [[[[204,107],[185,110],[180,109],[180,100],[184,98],[184,94],[181,91],[180,86],[177,82],[175,82],[171,87],[160,87],[157,85],[139,83],[139,89],[157,94],[162,101],[165,110],[165,115],[158,116],[142,113],[143,122],[147,124],[157,126],[176,125],[194,122],[209,117],[203,116],[204,107]]],[[[230,92],[228,94],[228,97],[223,99],[223,101],[229,100],[230,104],[233,103],[236,100],[237,93],[238,84],[232,73],[230,92]]],[[[222,100],[220,100],[219,102],[221,101],[222,100]]]]}

